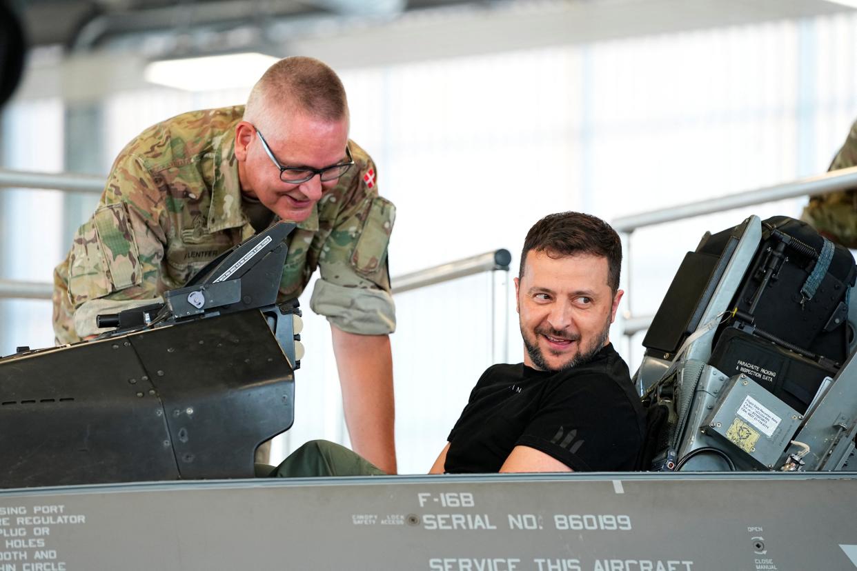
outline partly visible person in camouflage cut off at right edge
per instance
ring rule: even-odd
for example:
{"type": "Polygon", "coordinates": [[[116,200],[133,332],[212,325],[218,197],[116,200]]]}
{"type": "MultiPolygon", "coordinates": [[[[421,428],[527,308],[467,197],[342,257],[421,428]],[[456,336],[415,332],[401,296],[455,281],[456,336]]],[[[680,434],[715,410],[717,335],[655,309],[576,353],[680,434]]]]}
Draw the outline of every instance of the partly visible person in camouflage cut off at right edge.
{"type": "MultiPolygon", "coordinates": [[[[853,166],[857,166],[857,122],[828,170],[853,166]]],[[[857,248],[857,188],[812,196],[801,218],[831,241],[857,248]]]]}

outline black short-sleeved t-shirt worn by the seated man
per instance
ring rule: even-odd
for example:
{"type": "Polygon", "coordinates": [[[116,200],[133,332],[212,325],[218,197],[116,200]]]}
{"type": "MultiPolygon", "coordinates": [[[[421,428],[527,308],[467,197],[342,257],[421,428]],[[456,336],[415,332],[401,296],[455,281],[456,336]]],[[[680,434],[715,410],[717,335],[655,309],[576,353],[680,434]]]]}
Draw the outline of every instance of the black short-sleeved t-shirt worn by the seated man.
{"type": "Polygon", "coordinates": [[[628,367],[608,343],[589,363],[566,371],[488,367],[449,433],[445,469],[499,472],[523,445],[577,472],[635,470],[644,434],[628,367]]]}

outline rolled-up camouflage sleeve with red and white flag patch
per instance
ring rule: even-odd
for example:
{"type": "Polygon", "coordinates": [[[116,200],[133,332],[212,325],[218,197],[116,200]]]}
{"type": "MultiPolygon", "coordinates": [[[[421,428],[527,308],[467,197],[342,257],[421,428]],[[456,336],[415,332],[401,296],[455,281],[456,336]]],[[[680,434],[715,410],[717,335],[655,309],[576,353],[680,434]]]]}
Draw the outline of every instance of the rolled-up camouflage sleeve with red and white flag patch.
{"type": "Polygon", "coordinates": [[[378,196],[375,164],[368,161],[354,176],[345,205],[322,247],[321,278],[309,305],[339,330],[386,335],[396,329],[396,313],[387,270],[387,244],[396,207],[378,196]]]}

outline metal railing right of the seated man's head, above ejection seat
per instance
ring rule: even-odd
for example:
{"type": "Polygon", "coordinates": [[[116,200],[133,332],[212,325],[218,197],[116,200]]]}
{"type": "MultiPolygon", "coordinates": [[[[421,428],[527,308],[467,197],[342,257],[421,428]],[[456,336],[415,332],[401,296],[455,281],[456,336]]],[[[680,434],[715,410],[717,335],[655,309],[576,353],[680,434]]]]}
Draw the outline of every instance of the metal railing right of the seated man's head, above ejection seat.
{"type": "MultiPolygon", "coordinates": [[[[770,187],[761,187],[740,193],[727,194],[716,199],[699,200],[684,205],[671,206],[668,209],[642,212],[628,217],[616,218],[612,226],[622,238],[622,249],[630,252],[631,237],[636,229],[656,224],[685,220],[686,218],[714,214],[716,212],[728,211],[734,208],[764,204],[776,200],[794,199],[809,194],[827,194],[849,188],[857,187],[857,167],[835,170],[824,175],[810,176],[797,181],[776,184],[770,187]]],[[[622,275],[627,284],[626,303],[631,307],[632,277],[631,265],[626,256],[622,262],[622,275]]],[[[633,315],[626,312],[617,318],[620,322],[620,330],[625,336],[626,343],[635,333],[647,330],[653,316],[633,315]]],[[[628,347],[626,347],[626,350],[628,347]]],[[[628,353],[626,353],[628,354],[628,353]]]]}

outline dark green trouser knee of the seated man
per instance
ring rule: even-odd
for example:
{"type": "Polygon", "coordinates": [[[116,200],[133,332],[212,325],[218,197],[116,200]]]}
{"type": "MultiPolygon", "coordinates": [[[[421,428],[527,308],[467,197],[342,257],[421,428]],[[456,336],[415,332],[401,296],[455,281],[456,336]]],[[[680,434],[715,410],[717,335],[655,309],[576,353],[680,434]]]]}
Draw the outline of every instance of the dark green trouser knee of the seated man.
{"type": "Polygon", "coordinates": [[[383,476],[386,473],[363,456],[327,440],[312,440],[289,455],[269,478],[318,478],[321,476],[383,476]]]}

